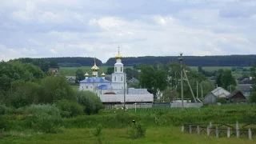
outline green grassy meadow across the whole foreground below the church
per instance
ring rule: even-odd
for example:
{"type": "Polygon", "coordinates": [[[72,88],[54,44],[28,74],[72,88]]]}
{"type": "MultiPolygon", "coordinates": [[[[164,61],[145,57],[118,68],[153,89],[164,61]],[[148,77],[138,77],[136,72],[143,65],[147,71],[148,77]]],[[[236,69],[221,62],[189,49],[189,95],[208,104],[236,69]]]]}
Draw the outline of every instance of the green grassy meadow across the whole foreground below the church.
{"type": "MultiPolygon", "coordinates": [[[[251,122],[256,119],[256,105],[205,106],[202,108],[147,108],[101,110],[99,114],[62,118],[62,132],[34,133],[28,130],[26,118],[20,114],[7,114],[12,129],[0,143],[254,143],[248,138],[215,138],[187,134],[181,131],[183,123],[251,122]],[[145,138],[130,138],[127,128],[132,121],[146,127],[145,138]],[[102,125],[101,142],[94,132],[102,125]]],[[[254,138],[256,136],[254,135],[254,138]]]]}

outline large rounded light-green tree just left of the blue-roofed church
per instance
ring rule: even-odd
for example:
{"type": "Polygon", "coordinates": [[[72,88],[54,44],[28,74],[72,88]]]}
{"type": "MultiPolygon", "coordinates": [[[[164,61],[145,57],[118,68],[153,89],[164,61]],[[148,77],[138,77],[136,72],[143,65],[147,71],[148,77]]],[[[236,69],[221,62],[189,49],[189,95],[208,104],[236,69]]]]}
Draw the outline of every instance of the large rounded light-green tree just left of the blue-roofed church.
{"type": "Polygon", "coordinates": [[[76,100],[74,90],[72,90],[66,78],[58,76],[48,76],[41,81],[42,97],[40,102],[53,103],[61,99],[76,100]]]}

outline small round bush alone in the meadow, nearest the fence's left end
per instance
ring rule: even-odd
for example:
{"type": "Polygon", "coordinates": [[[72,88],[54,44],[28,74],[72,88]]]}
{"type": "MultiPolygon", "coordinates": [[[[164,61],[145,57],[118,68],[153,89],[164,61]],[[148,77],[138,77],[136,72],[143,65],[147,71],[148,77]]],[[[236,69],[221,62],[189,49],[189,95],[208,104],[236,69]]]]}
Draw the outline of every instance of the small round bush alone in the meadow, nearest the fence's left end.
{"type": "Polygon", "coordinates": [[[146,134],[146,127],[140,123],[132,123],[128,128],[130,138],[144,138],[146,134]]]}

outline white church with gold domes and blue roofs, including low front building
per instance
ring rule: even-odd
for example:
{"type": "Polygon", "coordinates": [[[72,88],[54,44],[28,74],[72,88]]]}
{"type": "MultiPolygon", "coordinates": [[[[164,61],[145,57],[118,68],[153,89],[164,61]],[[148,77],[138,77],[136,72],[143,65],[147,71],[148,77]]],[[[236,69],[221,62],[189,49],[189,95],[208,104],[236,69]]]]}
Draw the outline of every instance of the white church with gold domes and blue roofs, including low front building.
{"type": "Polygon", "coordinates": [[[90,90],[98,95],[103,103],[149,103],[154,102],[153,94],[150,94],[146,89],[127,88],[126,73],[122,64],[122,56],[118,50],[115,57],[114,73],[112,80],[105,79],[104,72],[98,75],[98,66],[94,59],[94,66],[91,68],[92,74],[86,72],[85,79],[80,82],[79,90],[90,90]]]}

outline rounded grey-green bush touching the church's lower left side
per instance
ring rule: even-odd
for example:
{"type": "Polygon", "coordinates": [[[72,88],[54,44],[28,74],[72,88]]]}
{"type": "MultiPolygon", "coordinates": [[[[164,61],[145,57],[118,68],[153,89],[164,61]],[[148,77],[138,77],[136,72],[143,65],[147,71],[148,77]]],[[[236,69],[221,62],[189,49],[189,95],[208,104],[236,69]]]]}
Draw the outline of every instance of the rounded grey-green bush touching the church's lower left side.
{"type": "Polygon", "coordinates": [[[97,114],[102,109],[102,102],[96,94],[91,91],[78,91],[78,103],[84,107],[85,114],[97,114]]]}

